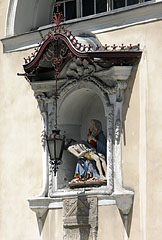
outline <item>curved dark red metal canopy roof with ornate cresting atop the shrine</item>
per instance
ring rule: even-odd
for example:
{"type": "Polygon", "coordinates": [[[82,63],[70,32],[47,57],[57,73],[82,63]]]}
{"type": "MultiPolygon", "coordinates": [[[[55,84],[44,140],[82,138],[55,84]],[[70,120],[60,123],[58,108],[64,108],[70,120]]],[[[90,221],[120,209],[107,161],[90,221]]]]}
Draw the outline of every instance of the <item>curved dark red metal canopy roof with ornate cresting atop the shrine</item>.
{"type": "Polygon", "coordinates": [[[94,35],[81,33],[74,36],[60,22],[61,16],[55,16],[53,29],[35,52],[24,58],[26,78],[31,83],[52,81],[56,75],[66,81],[83,79],[88,75],[103,81],[109,78],[107,84],[112,87],[115,79],[110,79],[110,69],[133,66],[141,56],[139,45],[102,46],[94,35]]]}

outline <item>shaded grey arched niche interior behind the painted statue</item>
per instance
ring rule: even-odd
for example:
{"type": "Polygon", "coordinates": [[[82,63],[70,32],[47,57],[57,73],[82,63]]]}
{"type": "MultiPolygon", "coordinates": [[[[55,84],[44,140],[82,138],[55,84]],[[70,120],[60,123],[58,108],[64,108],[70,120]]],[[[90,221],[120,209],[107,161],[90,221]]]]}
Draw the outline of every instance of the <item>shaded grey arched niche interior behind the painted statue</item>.
{"type": "MultiPolygon", "coordinates": [[[[67,138],[87,140],[88,121],[98,119],[102,123],[106,136],[106,116],[104,105],[98,94],[89,88],[74,89],[61,102],[59,111],[59,127],[67,138]]],[[[71,153],[64,151],[63,164],[59,166],[56,189],[68,187],[73,179],[77,159],[71,153]]]]}

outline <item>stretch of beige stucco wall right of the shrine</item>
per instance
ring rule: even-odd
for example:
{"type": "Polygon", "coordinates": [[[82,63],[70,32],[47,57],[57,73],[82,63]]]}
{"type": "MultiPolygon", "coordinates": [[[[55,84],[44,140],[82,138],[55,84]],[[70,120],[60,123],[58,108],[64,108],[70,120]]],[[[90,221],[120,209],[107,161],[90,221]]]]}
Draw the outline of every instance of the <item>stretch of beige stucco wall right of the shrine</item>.
{"type": "Polygon", "coordinates": [[[131,240],[161,239],[161,29],[157,21],[98,34],[103,44],[140,43],[143,50],[123,116],[123,183],[135,191],[131,240]]]}

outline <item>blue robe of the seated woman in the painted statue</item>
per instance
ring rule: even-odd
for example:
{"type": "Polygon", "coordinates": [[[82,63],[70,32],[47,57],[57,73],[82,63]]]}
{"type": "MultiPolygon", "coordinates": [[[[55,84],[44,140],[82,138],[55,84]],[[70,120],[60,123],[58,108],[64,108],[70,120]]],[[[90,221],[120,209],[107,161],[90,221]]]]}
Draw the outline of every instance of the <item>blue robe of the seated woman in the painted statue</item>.
{"type": "MultiPolygon", "coordinates": [[[[102,153],[104,156],[106,155],[106,138],[102,131],[98,134],[96,152],[102,153]]],[[[88,177],[100,178],[96,167],[96,161],[89,160],[86,157],[79,158],[76,165],[75,177],[78,175],[83,179],[88,177]]]]}

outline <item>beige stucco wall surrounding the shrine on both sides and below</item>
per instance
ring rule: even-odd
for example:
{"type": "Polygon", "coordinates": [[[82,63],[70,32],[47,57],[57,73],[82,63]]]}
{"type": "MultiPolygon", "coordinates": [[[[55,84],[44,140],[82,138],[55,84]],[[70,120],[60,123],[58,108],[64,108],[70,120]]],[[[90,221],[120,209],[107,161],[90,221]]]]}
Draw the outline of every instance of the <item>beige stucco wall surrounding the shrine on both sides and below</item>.
{"type": "MultiPolygon", "coordinates": [[[[0,0],[4,36],[7,1],[0,0]]],[[[123,183],[135,191],[130,240],[161,240],[162,204],[162,21],[98,34],[111,44],[137,44],[143,50],[126,91],[123,111],[123,183]]],[[[27,198],[41,191],[41,120],[30,85],[23,77],[23,57],[32,50],[3,54],[0,43],[0,238],[38,240],[35,214],[27,198]]],[[[51,210],[42,239],[63,235],[62,210],[51,210]]],[[[99,207],[99,240],[126,240],[116,206],[99,207]]]]}

